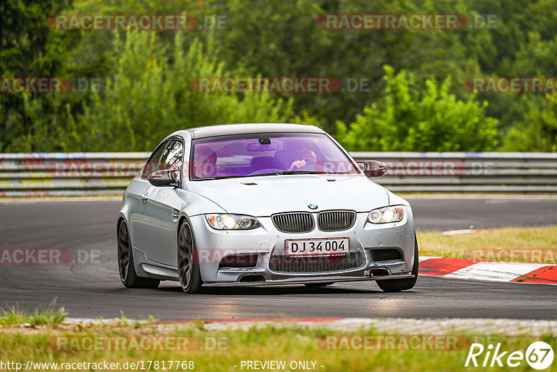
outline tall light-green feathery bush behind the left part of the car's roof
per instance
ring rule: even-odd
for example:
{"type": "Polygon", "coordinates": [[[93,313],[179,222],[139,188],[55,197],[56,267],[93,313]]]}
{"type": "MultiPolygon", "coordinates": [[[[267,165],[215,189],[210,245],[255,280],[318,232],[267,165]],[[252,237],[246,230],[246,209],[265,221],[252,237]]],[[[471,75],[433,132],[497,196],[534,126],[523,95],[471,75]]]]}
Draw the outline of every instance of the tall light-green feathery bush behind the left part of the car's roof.
{"type": "Polygon", "coordinates": [[[275,100],[270,93],[242,96],[191,89],[192,79],[226,76],[211,45],[203,48],[194,41],[184,52],[182,33],[176,33],[170,63],[153,33],[130,31],[124,40],[115,38],[114,76],[104,91],[93,93],[91,104],[70,123],[65,148],[150,150],[175,130],[223,123],[280,123],[293,116],[292,102],[275,100]]]}

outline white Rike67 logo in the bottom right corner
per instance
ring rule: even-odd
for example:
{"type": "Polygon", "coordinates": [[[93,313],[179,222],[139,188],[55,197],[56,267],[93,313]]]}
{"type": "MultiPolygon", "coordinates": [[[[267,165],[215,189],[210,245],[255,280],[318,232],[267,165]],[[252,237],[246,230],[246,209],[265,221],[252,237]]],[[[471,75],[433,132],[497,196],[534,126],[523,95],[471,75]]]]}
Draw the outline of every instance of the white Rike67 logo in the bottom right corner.
{"type": "Polygon", "coordinates": [[[481,343],[472,343],[464,366],[517,367],[526,360],[526,363],[533,369],[542,370],[551,366],[553,359],[553,348],[544,341],[531,343],[526,349],[526,353],[521,351],[509,352],[508,350],[501,350],[501,343],[497,343],[496,346],[490,343],[487,348],[481,343]]]}

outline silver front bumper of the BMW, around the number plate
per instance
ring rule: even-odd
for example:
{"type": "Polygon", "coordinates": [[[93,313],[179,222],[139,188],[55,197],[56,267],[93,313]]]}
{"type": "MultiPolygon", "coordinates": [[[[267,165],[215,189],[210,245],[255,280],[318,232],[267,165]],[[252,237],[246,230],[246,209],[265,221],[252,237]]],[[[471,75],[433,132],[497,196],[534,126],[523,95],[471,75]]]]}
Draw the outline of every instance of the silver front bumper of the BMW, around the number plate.
{"type": "Polygon", "coordinates": [[[356,216],[356,223],[345,231],[324,232],[315,228],[309,233],[283,233],[271,217],[257,217],[261,227],[249,231],[218,231],[211,228],[203,215],[190,218],[198,248],[201,277],[205,286],[265,286],[277,284],[366,281],[413,277],[414,220],[405,206],[405,217],[391,224],[370,224],[368,213],[356,216]],[[361,265],[343,270],[284,272],[272,270],[273,258],[284,258],[285,240],[350,238],[350,254],[361,255],[361,265]],[[372,251],[395,249],[400,258],[374,261],[372,251]],[[251,268],[220,267],[221,258],[256,254],[251,268]]]}

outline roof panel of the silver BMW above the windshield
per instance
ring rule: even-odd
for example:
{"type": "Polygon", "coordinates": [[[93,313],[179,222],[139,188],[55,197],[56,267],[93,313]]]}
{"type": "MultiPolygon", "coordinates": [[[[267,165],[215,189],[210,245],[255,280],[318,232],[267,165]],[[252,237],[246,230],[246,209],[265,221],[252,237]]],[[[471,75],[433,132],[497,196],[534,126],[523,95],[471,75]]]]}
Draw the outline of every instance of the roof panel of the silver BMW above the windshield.
{"type": "Polygon", "coordinates": [[[187,129],[191,138],[215,137],[227,134],[249,134],[268,132],[299,132],[299,133],[324,133],[313,125],[285,124],[285,123],[248,123],[248,124],[223,124],[208,125],[187,129]]]}

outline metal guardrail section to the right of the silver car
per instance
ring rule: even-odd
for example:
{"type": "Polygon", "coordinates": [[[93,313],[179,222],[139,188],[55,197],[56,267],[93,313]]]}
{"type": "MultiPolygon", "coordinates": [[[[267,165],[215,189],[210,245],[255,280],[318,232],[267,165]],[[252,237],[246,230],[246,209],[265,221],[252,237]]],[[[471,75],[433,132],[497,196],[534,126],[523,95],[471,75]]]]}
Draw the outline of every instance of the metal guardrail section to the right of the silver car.
{"type": "Polygon", "coordinates": [[[389,166],[393,192],[557,192],[557,153],[352,153],[389,166]]]}

